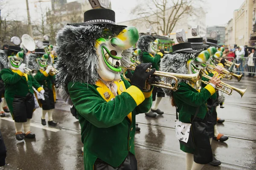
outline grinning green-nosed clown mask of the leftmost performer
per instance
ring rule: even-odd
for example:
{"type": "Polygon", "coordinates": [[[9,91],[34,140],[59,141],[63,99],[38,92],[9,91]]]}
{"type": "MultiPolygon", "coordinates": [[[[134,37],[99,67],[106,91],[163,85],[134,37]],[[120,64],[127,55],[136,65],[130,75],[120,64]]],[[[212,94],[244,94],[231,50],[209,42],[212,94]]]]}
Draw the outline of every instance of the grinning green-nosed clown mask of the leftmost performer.
{"type": "Polygon", "coordinates": [[[18,70],[23,61],[23,56],[23,52],[12,52],[11,55],[8,56],[9,65],[12,70],[18,70]]]}

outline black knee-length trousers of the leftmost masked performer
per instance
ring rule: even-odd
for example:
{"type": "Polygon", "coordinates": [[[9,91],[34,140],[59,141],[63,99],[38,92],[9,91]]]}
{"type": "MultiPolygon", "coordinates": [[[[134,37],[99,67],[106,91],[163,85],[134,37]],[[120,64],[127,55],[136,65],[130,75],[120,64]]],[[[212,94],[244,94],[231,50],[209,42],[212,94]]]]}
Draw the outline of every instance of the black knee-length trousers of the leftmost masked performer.
{"type": "Polygon", "coordinates": [[[30,92],[26,97],[14,96],[13,102],[13,119],[15,122],[26,122],[27,119],[32,118],[35,107],[34,95],[30,92]]]}

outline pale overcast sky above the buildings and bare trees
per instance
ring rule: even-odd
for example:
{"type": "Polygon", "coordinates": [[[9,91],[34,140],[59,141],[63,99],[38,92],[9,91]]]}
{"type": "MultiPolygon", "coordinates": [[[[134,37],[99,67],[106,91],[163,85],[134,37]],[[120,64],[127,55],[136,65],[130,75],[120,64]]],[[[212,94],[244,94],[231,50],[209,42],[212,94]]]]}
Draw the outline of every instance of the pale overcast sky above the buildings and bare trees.
{"type": "MultiPolygon", "coordinates": [[[[35,4],[38,0],[29,0],[30,14],[32,20],[36,20],[38,12],[36,12],[35,4]]],[[[50,0],[43,3],[44,7],[51,6],[50,0]]],[[[72,2],[74,0],[67,0],[72,2]]],[[[111,0],[112,9],[116,12],[116,22],[122,22],[132,19],[130,17],[131,9],[138,5],[139,0],[111,0]]],[[[239,9],[244,0],[206,0],[205,11],[206,25],[207,26],[219,26],[227,23],[233,18],[233,11],[239,9]]],[[[1,16],[4,16],[6,11],[12,12],[12,18],[18,18],[19,20],[26,20],[26,0],[8,0],[6,8],[1,11],[1,16]]]]}

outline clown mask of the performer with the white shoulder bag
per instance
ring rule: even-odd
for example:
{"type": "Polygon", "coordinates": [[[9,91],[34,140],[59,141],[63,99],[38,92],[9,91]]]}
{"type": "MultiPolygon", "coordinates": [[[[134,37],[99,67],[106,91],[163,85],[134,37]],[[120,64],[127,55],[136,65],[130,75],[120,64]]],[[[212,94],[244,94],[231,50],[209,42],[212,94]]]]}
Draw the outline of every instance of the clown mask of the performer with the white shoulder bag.
{"type": "Polygon", "coordinates": [[[189,59],[189,61],[187,61],[188,74],[195,74],[199,72],[200,69],[205,69],[205,63],[209,58],[210,53],[207,50],[204,50],[200,52],[196,58],[189,59]]]}

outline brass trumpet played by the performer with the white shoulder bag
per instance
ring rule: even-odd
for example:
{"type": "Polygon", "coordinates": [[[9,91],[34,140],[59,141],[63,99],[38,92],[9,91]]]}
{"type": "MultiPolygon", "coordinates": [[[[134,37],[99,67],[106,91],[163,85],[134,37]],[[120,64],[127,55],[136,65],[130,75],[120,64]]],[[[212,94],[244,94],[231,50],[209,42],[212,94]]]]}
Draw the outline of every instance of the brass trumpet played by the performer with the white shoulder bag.
{"type": "MultiPolygon", "coordinates": [[[[206,75],[206,74],[203,74],[202,76],[203,76],[204,78],[208,78],[209,80],[212,79],[212,77],[210,77],[209,75],[206,75]]],[[[202,83],[204,83],[204,84],[209,84],[208,81],[202,81],[202,83]]],[[[228,94],[228,95],[232,95],[232,92],[233,92],[233,90],[234,90],[234,91],[238,92],[238,93],[241,95],[241,98],[243,97],[245,91],[247,90],[247,88],[246,88],[246,89],[239,89],[239,88],[230,86],[229,84],[226,84],[226,83],[224,83],[224,82],[222,82],[222,81],[221,81],[221,83],[218,84],[218,85],[219,85],[219,86],[216,86],[215,89],[218,89],[218,90],[220,90],[221,92],[224,92],[224,93],[226,93],[226,94],[228,94]]]]}

